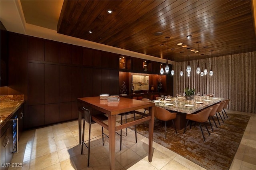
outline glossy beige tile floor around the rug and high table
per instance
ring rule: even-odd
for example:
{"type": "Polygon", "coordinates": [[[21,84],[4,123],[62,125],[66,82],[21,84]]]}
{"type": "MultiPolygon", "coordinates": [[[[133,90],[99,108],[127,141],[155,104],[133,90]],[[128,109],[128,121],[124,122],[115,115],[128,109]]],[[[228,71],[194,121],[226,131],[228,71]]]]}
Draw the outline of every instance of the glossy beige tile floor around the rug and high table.
{"type": "MultiPolygon", "coordinates": [[[[256,114],[228,111],[250,115],[250,121],[233,160],[230,170],[256,169],[256,114]]],[[[107,131],[106,131],[107,132],[107,131]]],[[[101,127],[92,125],[92,134],[100,134],[101,127]]],[[[85,134],[88,136],[88,134],[85,134]]],[[[92,136],[93,137],[93,136],[92,136]]],[[[148,162],[148,138],[138,134],[135,143],[134,132],[123,137],[120,151],[120,136],[116,135],[116,170],[202,170],[204,168],[182,156],[153,143],[152,162],[148,162]]],[[[101,139],[97,139],[98,141],[101,139]]],[[[28,130],[22,133],[19,152],[12,163],[23,163],[24,170],[105,170],[109,169],[108,142],[92,147],[90,167],[87,168],[87,149],[81,155],[78,143],[78,121],[28,130]]]]}

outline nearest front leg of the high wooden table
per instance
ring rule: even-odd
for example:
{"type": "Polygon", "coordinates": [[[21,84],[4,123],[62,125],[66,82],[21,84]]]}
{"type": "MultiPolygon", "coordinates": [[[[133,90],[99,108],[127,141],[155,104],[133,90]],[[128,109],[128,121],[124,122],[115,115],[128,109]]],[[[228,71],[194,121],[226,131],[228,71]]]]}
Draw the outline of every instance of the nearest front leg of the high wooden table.
{"type": "Polygon", "coordinates": [[[108,117],[109,167],[115,169],[116,115],[108,117]]]}

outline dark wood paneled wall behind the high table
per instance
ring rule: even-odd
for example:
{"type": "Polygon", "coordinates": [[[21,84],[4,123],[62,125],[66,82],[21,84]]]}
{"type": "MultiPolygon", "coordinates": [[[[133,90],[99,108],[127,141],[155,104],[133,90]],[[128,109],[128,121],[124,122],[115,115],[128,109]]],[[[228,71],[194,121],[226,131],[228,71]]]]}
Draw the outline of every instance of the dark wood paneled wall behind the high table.
{"type": "MultiPolygon", "coordinates": [[[[142,59],[131,58],[124,71],[144,73],[142,59]]],[[[116,53],[9,33],[9,63],[8,93],[25,95],[25,129],[77,119],[78,97],[119,94],[116,53]]]]}

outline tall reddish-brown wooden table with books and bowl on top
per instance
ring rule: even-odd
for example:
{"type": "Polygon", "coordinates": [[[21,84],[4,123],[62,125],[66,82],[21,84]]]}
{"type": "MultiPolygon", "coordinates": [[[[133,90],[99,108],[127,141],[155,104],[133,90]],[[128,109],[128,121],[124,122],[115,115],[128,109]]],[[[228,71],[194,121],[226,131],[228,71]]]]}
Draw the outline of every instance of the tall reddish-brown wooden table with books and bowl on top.
{"type": "Polygon", "coordinates": [[[79,111],[81,107],[91,107],[98,111],[108,115],[108,125],[102,123],[99,120],[93,120],[102,127],[108,129],[109,132],[109,158],[110,158],[110,170],[115,169],[115,136],[116,131],[126,127],[130,127],[144,121],[149,121],[148,129],[148,161],[152,161],[153,156],[153,130],[154,130],[154,107],[155,103],[140,101],[135,99],[128,99],[121,97],[119,102],[108,102],[108,100],[101,100],[100,97],[84,97],[78,98],[78,128],[79,128],[79,144],[81,144],[81,121],[82,113],[79,111]],[[116,126],[116,115],[120,113],[126,113],[135,111],[138,109],[149,108],[149,115],[142,119],[132,121],[123,125],[116,126]]]}

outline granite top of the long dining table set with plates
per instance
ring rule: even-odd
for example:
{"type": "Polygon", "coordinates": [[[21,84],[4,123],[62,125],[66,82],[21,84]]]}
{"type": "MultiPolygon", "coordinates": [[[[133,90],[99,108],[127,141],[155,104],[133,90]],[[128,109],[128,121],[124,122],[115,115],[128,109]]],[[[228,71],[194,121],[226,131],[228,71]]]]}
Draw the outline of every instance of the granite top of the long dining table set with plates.
{"type": "Polygon", "coordinates": [[[174,102],[174,99],[170,101],[161,101],[158,103],[157,101],[155,106],[162,107],[164,109],[170,110],[170,111],[176,111],[180,113],[186,113],[186,114],[192,114],[197,111],[200,111],[201,109],[204,109],[206,107],[209,107],[211,105],[214,105],[215,103],[219,103],[220,101],[223,101],[224,98],[220,97],[200,97],[195,96],[194,103],[192,101],[187,101],[185,97],[178,98],[178,104],[174,102]],[[169,104],[171,105],[169,105],[169,104]]]}

